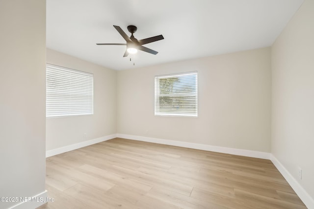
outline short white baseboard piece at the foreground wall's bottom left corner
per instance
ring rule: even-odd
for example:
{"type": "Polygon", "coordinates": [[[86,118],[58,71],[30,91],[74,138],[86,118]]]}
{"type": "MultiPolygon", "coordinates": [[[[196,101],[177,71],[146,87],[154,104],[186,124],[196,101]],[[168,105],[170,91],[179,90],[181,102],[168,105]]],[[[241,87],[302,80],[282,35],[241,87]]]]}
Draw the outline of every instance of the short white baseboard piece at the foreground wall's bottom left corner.
{"type": "Polygon", "coordinates": [[[25,201],[8,209],[35,209],[47,202],[47,190],[33,197],[23,197],[25,201]]]}

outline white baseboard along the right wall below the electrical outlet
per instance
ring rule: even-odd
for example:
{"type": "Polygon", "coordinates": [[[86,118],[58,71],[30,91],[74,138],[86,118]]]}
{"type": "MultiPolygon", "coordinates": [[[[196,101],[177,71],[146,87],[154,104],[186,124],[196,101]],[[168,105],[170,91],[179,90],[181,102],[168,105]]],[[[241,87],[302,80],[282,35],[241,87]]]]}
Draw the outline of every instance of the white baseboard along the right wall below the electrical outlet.
{"type": "Polygon", "coordinates": [[[279,172],[284,176],[288,184],[293,188],[295,193],[300,197],[308,209],[314,209],[314,199],[305,191],[289,171],[281,164],[275,156],[270,155],[271,162],[276,166],[279,172]]]}

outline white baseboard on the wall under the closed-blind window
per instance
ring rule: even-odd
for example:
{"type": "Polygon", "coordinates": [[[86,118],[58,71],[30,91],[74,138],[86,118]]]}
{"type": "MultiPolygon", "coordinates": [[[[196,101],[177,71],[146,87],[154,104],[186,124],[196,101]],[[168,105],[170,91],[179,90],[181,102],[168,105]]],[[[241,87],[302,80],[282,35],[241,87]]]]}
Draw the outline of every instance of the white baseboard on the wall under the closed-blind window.
{"type": "Polygon", "coordinates": [[[92,145],[92,144],[96,144],[96,143],[99,143],[99,142],[102,142],[102,141],[106,141],[106,140],[109,140],[109,139],[114,139],[114,138],[116,138],[116,134],[112,134],[112,135],[105,136],[105,137],[100,137],[100,138],[97,138],[97,139],[91,139],[91,140],[88,140],[88,141],[82,141],[82,142],[79,142],[79,143],[71,144],[71,145],[64,146],[64,147],[59,147],[59,148],[52,149],[52,150],[47,150],[46,151],[46,158],[54,156],[54,155],[58,155],[58,154],[61,154],[61,153],[64,153],[64,152],[69,152],[71,150],[75,150],[75,149],[82,148],[82,147],[85,147],[85,146],[89,146],[89,145],[92,145]]]}

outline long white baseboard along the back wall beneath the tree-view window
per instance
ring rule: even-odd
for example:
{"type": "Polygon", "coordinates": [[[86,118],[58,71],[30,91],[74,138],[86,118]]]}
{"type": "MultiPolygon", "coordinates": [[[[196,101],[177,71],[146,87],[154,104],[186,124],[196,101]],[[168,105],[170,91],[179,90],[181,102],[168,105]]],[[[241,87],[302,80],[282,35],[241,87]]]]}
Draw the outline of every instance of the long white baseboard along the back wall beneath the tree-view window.
{"type": "Polygon", "coordinates": [[[134,135],[126,135],[126,134],[117,134],[116,137],[270,160],[270,153],[267,153],[267,152],[212,146],[212,145],[207,145],[207,144],[198,144],[198,143],[191,143],[191,142],[185,142],[185,141],[141,137],[141,136],[134,136],[134,135]]]}

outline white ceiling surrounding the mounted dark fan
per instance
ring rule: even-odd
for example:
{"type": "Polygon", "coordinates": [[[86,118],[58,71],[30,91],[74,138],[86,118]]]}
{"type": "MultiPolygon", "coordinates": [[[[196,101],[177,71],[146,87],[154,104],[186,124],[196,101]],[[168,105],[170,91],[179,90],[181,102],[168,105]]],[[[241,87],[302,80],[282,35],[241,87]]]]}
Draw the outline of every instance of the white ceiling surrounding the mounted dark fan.
{"type": "Polygon", "coordinates": [[[47,0],[47,47],[102,65],[126,70],[271,46],[303,0],[47,0]],[[112,25],[138,40],[164,40],[123,57],[125,43],[112,25]],[[135,66],[133,66],[133,62],[135,66]]]}

